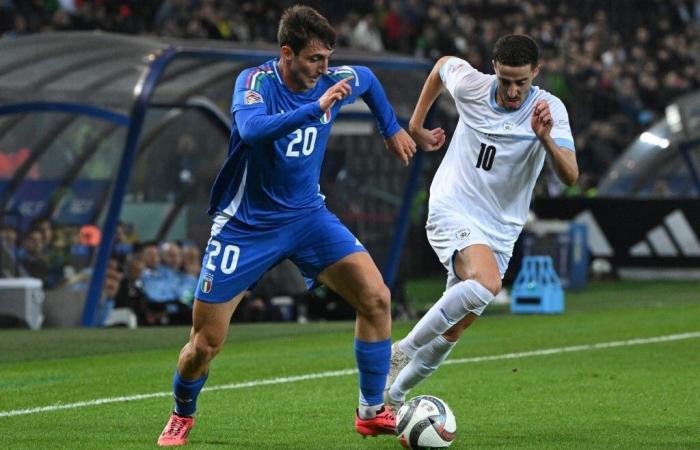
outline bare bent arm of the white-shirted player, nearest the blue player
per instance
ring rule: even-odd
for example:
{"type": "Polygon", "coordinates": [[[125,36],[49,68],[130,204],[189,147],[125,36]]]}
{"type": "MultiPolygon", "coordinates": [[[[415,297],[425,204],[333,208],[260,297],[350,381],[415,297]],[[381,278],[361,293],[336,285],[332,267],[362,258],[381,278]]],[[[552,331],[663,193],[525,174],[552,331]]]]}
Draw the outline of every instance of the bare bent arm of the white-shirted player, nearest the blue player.
{"type": "Polygon", "coordinates": [[[442,90],[442,79],[440,78],[440,68],[451,56],[443,56],[440,58],[430,71],[430,75],[423,83],[420,97],[416,107],[413,109],[413,115],[408,123],[408,129],[416,140],[420,148],[427,151],[439,149],[445,143],[445,130],[442,128],[434,128],[429,130],[425,128],[425,118],[428,115],[430,107],[433,106],[435,100],[440,96],[442,90]]]}

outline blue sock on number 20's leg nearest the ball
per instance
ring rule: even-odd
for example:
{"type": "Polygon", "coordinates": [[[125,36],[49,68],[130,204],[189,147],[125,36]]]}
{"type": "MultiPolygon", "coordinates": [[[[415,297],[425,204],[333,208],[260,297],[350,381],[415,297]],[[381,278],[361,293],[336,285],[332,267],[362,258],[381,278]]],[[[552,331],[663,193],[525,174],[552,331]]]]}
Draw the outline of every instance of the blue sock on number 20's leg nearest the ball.
{"type": "Polygon", "coordinates": [[[391,359],[391,339],[366,342],[356,337],[355,359],[360,371],[360,405],[383,404],[391,359]]]}

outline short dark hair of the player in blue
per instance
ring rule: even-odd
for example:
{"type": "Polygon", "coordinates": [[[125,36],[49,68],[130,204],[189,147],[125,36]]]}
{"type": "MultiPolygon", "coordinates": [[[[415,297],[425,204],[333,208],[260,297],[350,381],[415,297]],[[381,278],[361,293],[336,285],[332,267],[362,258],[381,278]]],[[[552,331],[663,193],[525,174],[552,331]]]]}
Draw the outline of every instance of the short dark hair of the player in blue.
{"type": "Polygon", "coordinates": [[[304,5],[287,8],[277,30],[280,47],[288,45],[294,53],[299,53],[313,39],[318,39],[328,49],[335,48],[335,30],[318,11],[304,5]]]}

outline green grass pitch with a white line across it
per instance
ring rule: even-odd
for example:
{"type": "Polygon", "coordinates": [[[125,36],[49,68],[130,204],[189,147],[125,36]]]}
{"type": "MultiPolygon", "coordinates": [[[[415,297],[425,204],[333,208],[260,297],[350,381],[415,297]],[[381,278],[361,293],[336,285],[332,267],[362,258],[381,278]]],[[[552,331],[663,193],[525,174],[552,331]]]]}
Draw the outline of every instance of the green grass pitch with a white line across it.
{"type": "MultiPolygon", "coordinates": [[[[440,290],[436,281],[408,287],[419,308],[440,290]]],[[[395,323],[394,337],[411,325],[395,323]]],[[[562,315],[490,308],[452,363],[411,395],[449,403],[455,449],[700,449],[698,332],[700,283],[594,283],[568,292],[562,315]],[[608,342],[620,344],[587,347],[608,342]],[[525,353],[543,349],[555,350],[525,353]]],[[[0,448],[155,448],[187,333],[0,331],[0,448]]],[[[395,438],[362,439],[353,429],[352,338],[350,322],[232,326],[188,448],[401,448],[395,438]]]]}

